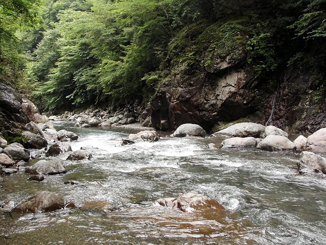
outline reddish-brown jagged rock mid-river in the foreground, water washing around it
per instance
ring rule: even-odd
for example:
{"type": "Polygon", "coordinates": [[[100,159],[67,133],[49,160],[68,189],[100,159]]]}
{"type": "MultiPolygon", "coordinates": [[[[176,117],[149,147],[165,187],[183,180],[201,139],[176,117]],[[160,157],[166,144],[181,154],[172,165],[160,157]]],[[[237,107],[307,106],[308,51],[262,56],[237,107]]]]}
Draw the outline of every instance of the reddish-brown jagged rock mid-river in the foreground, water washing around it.
{"type": "Polygon", "coordinates": [[[177,199],[159,199],[156,201],[156,203],[164,207],[181,210],[182,212],[225,212],[225,208],[218,201],[195,192],[182,194],[177,199]]]}

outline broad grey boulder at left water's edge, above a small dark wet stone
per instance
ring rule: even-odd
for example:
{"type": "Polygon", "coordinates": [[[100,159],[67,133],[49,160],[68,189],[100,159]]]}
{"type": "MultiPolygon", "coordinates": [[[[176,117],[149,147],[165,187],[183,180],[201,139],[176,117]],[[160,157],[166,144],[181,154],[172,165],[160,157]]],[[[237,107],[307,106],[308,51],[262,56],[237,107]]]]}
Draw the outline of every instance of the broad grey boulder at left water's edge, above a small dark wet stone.
{"type": "Polygon", "coordinates": [[[62,159],[40,160],[33,166],[26,167],[25,172],[32,175],[57,175],[67,173],[62,159]]]}

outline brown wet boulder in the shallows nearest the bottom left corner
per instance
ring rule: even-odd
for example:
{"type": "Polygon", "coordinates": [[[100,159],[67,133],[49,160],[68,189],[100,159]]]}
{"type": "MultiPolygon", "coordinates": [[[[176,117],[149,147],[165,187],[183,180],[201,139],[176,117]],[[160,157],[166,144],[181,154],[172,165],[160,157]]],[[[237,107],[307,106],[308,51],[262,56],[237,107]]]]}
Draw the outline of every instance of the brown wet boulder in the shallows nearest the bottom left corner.
{"type": "Polygon", "coordinates": [[[49,191],[39,191],[28,201],[12,209],[14,213],[44,213],[64,208],[66,200],[49,191]]]}

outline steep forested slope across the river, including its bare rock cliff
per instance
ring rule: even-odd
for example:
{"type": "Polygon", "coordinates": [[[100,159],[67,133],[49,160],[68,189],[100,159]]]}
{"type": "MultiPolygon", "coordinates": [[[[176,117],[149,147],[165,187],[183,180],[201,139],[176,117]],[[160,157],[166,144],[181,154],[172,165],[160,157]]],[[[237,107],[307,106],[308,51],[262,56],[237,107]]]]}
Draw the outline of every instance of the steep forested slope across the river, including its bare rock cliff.
{"type": "Polygon", "coordinates": [[[326,0],[46,0],[22,36],[23,79],[43,110],[137,103],[140,120],[164,130],[240,119],[311,131],[326,120],[325,9],[326,0]]]}

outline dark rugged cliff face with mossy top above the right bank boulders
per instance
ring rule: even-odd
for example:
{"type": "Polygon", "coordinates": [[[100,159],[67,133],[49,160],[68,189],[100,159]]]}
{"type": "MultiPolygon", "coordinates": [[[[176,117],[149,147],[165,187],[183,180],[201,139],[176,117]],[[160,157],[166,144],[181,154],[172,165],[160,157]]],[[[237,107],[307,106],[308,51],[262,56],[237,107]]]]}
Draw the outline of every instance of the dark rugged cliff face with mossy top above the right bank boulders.
{"type": "Polygon", "coordinates": [[[250,34],[243,26],[214,24],[189,34],[194,40],[188,45],[191,48],[173,46],[180,53],[172,56],[170,75],[151,102],[153,127],[175,130],[193,123],[210,132],[235,120],[275,125],[289,132],[326,127],[322,64],[316,68],[318,59],[312,58],[317,51],[302,57],[310,62],[283,62],[275,72],[257,77],[246,47],[250,34]]]}

